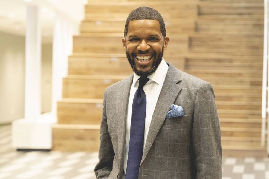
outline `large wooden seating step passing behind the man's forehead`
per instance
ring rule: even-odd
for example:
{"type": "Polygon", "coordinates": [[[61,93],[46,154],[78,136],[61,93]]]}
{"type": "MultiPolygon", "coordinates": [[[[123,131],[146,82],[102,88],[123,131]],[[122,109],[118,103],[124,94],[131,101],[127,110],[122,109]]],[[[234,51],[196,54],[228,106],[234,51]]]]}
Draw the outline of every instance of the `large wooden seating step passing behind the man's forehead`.
{"type": "MultiPolygon", "coordinates": [[[[91,18],[82,21],[81,33],[123,33],[124,18],[91,18]]],[[[195,32],[194,19],[166,19],[166,34],[193,34],[195,32]]]]}

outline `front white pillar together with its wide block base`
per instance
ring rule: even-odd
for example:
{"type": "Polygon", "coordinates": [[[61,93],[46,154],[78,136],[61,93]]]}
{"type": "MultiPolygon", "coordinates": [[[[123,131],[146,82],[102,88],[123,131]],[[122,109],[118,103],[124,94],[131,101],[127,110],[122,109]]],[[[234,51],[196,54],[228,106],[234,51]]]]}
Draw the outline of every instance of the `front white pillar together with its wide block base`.
{"type": "Polygon", "coordinates": [[[41,28],[39,7],[27,6],[25,34],[25,118],[12,122],[12,146],[51,149],[50,114],[41,115],[41,28]]]}

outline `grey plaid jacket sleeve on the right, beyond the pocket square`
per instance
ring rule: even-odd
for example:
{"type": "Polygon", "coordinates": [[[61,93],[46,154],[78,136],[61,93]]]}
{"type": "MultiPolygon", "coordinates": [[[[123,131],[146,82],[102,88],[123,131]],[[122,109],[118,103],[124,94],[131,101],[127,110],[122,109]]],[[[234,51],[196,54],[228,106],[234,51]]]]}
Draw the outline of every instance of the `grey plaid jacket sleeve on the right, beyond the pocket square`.
{"type": "Polygon", "coordinates": [[[203,83],[198,89],[192,130],[196,179],[222,179],[221,130],[210,83],[203,83]]]}

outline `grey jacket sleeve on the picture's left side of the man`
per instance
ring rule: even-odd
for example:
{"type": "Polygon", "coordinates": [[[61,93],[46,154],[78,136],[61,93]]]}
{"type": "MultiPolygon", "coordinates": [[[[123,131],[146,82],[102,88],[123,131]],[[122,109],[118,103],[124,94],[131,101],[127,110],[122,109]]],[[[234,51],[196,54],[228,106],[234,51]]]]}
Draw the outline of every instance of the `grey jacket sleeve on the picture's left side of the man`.
{"type": "MultiPolygon", "coordinates": [[[[107,90],[106,90],[107,92],[107,90]]],[[[110,135],[108,133],[108,125],[106,118],[106,92],[104,95],[102,121],[100,128],[100,148],[99,148],[99,162],[95,166],[94,172],[96,179],[108,178],[113,165],[114,150],[110,135]]]]}

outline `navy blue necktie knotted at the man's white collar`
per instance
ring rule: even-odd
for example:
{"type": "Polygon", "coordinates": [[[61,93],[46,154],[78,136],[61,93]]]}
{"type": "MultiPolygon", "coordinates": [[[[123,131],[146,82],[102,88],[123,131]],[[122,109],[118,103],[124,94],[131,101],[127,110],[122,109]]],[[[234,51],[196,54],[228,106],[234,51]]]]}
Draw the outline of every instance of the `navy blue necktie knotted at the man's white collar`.
{"type": "Polygon", "coordinates": [[[138,89],[132,107],[130,143],[128,151],[127,169],[125,179],[137,179],[139,166],[143,155],[145,118],[147,99],[143,86],[149,81],[149,78],[141,77],[138,89]]]}

